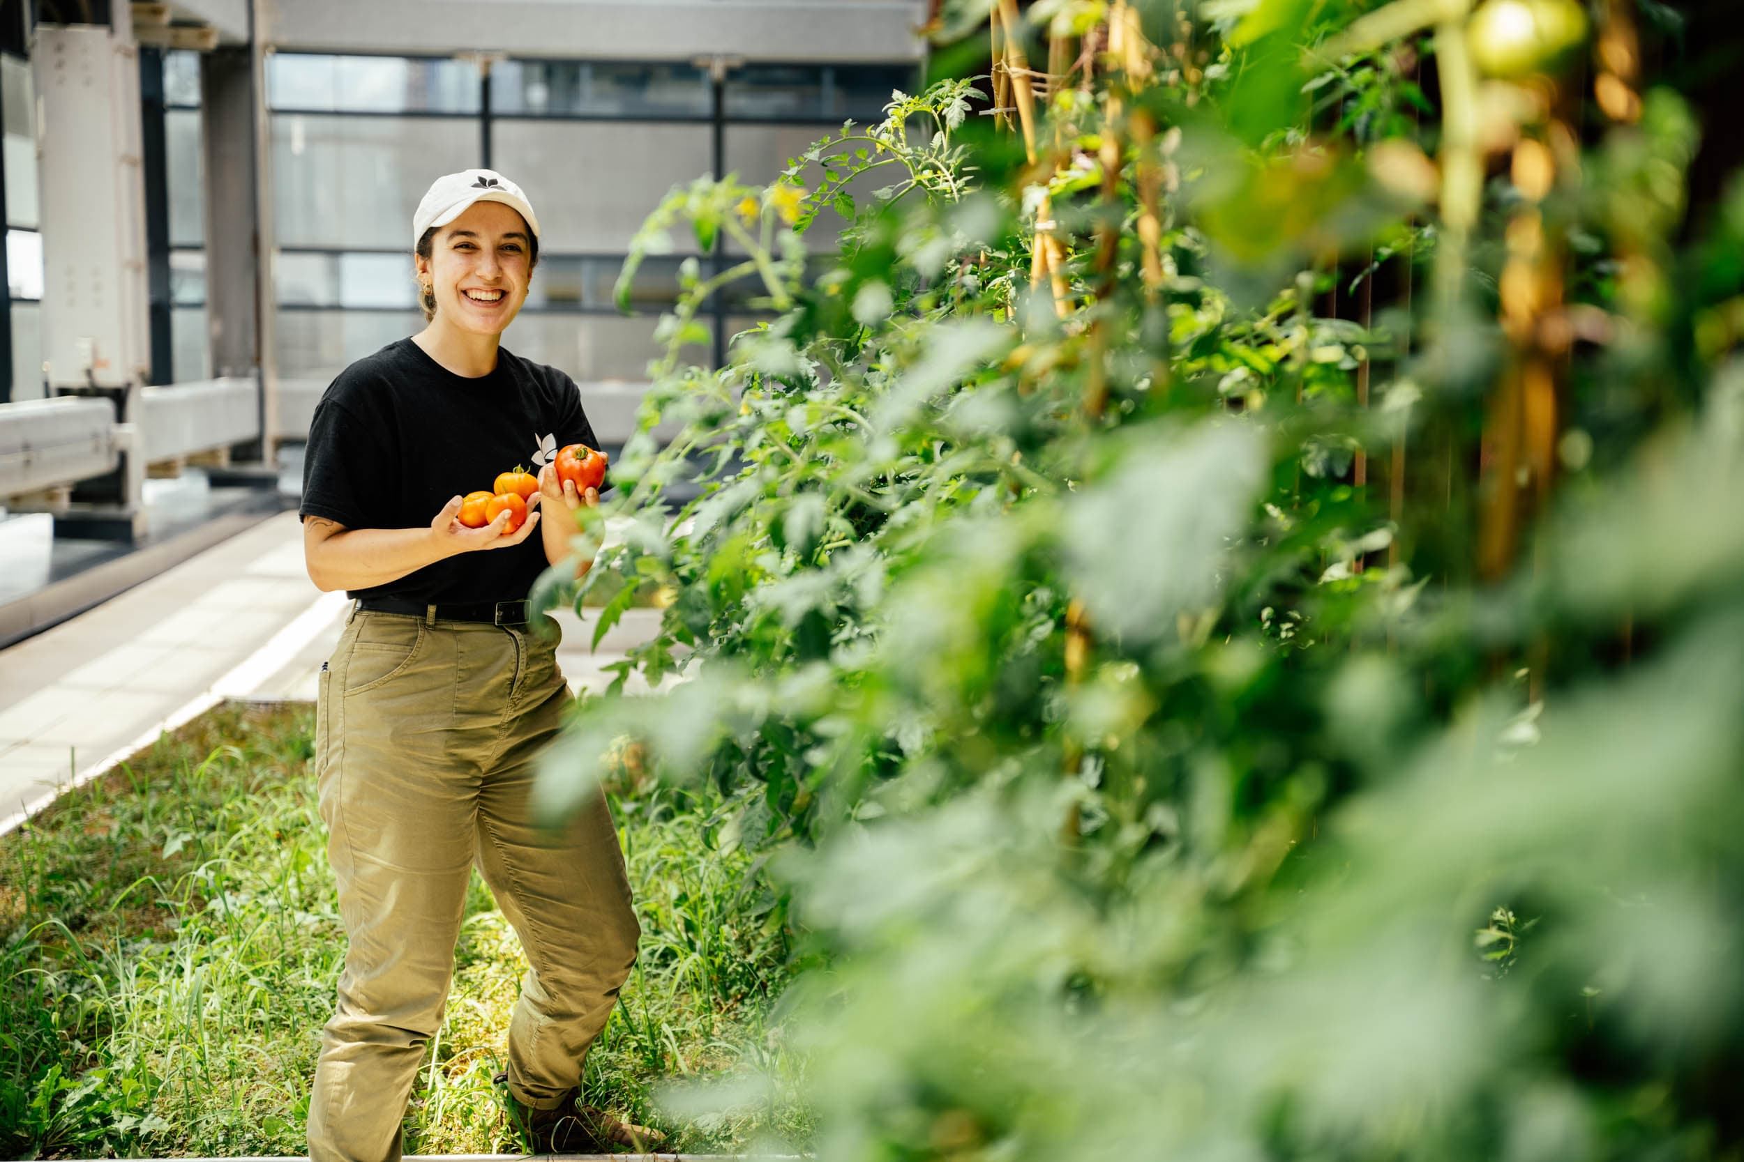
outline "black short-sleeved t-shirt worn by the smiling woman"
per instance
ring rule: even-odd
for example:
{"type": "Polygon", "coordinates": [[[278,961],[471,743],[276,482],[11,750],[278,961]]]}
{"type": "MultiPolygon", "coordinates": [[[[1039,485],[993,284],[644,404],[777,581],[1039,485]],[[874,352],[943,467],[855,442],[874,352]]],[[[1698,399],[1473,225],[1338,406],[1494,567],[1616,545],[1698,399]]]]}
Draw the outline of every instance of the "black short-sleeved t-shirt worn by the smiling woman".
{"type": "MultiPolygon", "coordinates": [[[[426,528],[450,497],[490,491],[497,472],[514,465],[537,476],[541,446],[549,458],[565,444],[600,441],[581,390],[556,368],[499,348],[490,375],[467,378],[405,338],[351,364],[323,392],[309,425],[298,514],[345,528],[426,528]]],[[[539,517],[548,519],[549,512],[539,517]]],[[[542,533],[534,530],[513,549],[462,552],[347,592],[438,605],[516,601],[546,564],[542,533]]]]}

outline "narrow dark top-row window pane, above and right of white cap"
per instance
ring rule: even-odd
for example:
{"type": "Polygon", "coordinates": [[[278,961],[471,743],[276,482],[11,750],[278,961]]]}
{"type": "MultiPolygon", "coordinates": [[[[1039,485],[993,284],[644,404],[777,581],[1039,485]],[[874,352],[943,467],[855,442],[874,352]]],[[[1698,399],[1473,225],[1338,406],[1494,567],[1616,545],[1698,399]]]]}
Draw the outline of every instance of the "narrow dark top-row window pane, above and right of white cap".
{"type": "Polygon", "coordinates": [[[694,64],[504,61],[490,70],[494,113],[708,117],[708,73],[694,64]]]}

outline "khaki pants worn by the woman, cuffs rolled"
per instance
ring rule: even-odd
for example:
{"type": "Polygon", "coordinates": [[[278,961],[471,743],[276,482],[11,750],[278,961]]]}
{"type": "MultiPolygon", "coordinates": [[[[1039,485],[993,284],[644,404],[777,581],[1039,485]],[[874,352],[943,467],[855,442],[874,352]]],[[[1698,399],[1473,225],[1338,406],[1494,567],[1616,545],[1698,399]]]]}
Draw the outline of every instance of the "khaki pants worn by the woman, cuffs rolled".
{"type": "Polygon", "coordinates": [[[309,1105],[312,1162],[399,1159],[399,1124],[441,1024],[469,871],[527,949],[509,1089],[551,1108],[579,1084],[635,963],[617,833],[596,796],[562,831],[528,791],[569,686],[556,629],[354,611],[316,714],[328,859],[351,944],[309,1105]]]}

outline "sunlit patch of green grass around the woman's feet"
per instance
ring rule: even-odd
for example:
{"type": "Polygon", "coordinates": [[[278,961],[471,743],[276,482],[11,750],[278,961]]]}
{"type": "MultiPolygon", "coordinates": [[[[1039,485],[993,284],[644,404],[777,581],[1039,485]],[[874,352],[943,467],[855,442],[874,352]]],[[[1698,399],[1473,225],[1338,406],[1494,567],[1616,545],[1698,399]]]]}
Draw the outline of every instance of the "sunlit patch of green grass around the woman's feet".
{"type": "MultiPolygon", "coordinates": [[[[220,707],[0,838],[0,1153],[303,1152],[344,936],[309,770],[309,706],[220,707]]],[[[780,913],[719,803],[614,796],[642,958],[588,1057],[596,1105],[680,1150],[809,1136],[773,1023],[780,913]],[[680,1078],[774,1078],[675,1118],[680,1078]]],[[[476,873],[406,1153],[514,1152],[490,1084],[525,962],[476,873]]]]}

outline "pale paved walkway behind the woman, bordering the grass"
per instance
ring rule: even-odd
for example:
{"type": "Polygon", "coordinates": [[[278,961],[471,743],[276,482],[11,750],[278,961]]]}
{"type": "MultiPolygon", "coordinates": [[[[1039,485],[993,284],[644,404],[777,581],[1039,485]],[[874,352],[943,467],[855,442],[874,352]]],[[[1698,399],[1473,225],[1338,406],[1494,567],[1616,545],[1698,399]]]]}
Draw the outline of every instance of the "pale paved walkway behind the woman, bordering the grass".
{"type": "MultiPolygon", "coordinates": [[[[302,524],[279,512],[0,650],[0,833],[221,700],[314,700],[347,605],[309,580],[302,524]]],[[[630,610],[593,653],[596,613],[556,617],[576,690],[610,683],[659,622],[630,610]]]]}

